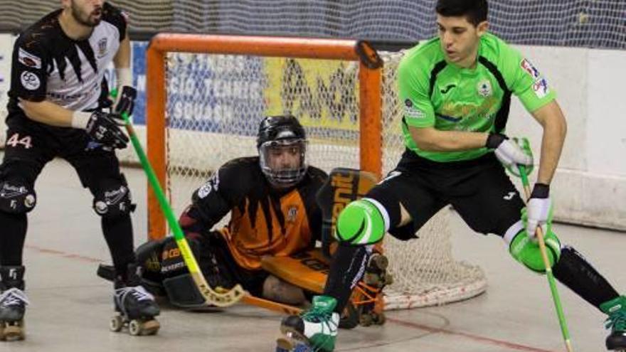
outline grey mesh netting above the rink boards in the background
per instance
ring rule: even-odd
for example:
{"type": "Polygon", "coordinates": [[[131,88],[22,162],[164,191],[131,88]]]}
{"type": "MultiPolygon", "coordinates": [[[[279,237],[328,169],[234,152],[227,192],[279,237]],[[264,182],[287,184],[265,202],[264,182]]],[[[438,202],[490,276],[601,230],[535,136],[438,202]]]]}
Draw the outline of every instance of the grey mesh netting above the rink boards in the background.
{"type": "MultiPolygon", "coordinates": [[[[418,41],[435,35],[432,0],[111,0],[132,31],[418,41]]],[[[0,0],[0,27],[26,28],[59,1],[0,0]]],[[[494,33],[516,44],[626,48],[626,1],[489,1],[494,33]]]]}

